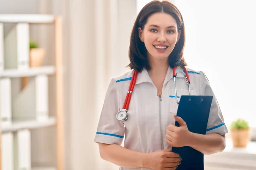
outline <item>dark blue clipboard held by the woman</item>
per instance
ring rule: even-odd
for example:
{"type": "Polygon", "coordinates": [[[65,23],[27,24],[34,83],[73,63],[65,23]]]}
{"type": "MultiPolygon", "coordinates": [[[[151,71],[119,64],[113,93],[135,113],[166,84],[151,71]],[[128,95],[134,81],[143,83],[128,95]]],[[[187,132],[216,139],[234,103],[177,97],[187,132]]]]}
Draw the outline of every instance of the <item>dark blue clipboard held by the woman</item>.
{"type": "MultiPolygon", "coordinates": [[[[213,96],[181,96],[177,110],[190,132],[206,134],[213,96]]],[[[175,122],[175,126],[180,126],[175,122]]],[[[177,170],[204,170],[204,154],[192,147],[172,147],[172,152],[180,154],[182,164],[177,170]]]]}

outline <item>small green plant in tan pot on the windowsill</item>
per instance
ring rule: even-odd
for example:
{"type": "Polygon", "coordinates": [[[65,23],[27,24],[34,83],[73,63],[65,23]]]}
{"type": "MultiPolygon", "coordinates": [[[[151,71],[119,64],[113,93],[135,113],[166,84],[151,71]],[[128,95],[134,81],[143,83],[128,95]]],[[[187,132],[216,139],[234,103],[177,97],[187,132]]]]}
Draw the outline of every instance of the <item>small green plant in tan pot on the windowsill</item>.
{"type": "Polygon", "coordinates": [[[246,147],[250,141],[250,126],[244,119],[237,119],[231,124],[231,137],[234,147],[246,147]]]}

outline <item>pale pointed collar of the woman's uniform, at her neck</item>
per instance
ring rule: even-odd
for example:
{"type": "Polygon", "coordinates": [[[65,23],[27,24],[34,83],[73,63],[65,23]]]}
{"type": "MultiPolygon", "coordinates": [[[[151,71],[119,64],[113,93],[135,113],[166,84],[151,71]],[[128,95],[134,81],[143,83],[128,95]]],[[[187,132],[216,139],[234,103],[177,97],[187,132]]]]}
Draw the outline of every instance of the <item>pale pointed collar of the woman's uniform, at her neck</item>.
{"type": "MultiPolygon", "coordinates": [[[[183,71],[183,69],[180,66],[177,67],[176,73],[179,72],[179,71],[183,71]]],[[[172,77],[172,72],[173,72],[173,69],[169,67],[168,71],[167,71],[167,74],[166,74],[166,78],[165,78],[163,84],[166,84],[166,82],[168,82],[170,79],[173,78],[172,77]]],[[[179,77],[183,78],[183,75],[182,74],[177,74],[177,77],[178,78],[179,77]]],[[[145,68],[143,68],[142,72],[138,73],[137,80],[136,80],[136,85],[140,84],[140,83],[143,83],[143,82],[151,82],[152,84],[154,84],[152,79],[149,77],[147,69],[145,69],[145,68]]]]}

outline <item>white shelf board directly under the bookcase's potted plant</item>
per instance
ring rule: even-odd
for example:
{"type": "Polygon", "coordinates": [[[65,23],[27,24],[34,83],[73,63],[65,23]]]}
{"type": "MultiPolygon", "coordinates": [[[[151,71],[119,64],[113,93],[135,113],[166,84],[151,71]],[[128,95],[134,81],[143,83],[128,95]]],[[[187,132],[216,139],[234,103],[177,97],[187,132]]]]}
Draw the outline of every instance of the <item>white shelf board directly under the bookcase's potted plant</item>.
{"type": "Polygon", "coordinates": [[[54,66],[42,66],[26,70],[6,69],[0,72],[0,77],[32,77],[39,74],[55,74],[54,66]]]}

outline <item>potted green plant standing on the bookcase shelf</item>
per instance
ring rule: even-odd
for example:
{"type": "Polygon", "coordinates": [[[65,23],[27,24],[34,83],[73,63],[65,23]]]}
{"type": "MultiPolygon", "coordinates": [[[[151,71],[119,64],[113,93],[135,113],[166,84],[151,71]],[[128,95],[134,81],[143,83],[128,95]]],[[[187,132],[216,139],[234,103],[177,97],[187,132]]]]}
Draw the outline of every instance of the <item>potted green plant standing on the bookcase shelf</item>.
{"type": "Polygon", "coordinates": [[[29,49],[29,66],[40,67],[43,64],[45,50],[39,48],[38,43],[32,40],[29,42],[29,49]]]}

